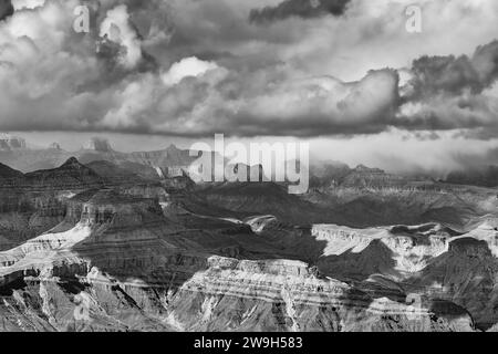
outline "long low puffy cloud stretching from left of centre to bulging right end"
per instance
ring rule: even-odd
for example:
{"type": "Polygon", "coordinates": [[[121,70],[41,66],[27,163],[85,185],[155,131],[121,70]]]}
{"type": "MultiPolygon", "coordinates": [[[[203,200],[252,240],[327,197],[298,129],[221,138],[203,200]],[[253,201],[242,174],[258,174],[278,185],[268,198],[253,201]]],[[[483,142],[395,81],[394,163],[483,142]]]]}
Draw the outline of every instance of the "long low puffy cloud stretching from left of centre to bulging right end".
{"type": "Polygon", "coordinates": [[[392,123],[398,101],[397,73],[390,70],[350,83],[326,76],[295,79],[284,69],[251,75],[247,85],[250,75],[225,67],[191,80],[174,81],[168,72],[167,84],[164,76],[147,75],[115,93],[123,104],[102,123],[112,129],[180,136],[375,133],[392,123]]]}

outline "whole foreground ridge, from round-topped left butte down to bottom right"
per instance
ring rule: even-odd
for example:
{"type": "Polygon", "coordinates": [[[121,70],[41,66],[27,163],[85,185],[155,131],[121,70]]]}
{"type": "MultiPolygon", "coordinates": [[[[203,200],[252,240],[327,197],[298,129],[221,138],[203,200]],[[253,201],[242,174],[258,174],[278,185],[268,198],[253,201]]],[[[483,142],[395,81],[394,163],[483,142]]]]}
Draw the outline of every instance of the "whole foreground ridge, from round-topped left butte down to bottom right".
{"type": "MultiPolygon", "coordinates": [[[[245,222],[214,218],[204,223],[214,229],[201,231],[166,219],[156,200],[115,190],[81,194],[68,206],[52,231],[0,253],[1,330],[474,329],[458,306],[430,299],[414,306],[406,294],[369,292],[309,262],[283,259],[287,251],[279,256],[280,246],[266,243],[267,232],[301,231],[271,217],[246,220],[256,233],[241,227],[226,232],[245,222]]],[[[356,242],[325,226],[312,235],[356,242]]],[[[292,249],[294,257],[301,252],[292,249]]],[[[331,252],[340,251],[325,247],[322,256],[331,252]]]]}

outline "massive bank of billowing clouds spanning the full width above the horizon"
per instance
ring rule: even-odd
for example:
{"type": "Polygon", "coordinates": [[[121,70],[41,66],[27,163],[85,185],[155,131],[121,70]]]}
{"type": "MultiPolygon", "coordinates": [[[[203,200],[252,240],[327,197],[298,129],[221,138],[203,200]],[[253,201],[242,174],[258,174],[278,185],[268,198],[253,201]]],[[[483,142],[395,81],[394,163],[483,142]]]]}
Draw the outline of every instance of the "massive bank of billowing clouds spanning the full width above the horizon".
{"type": "MultiPolygon", "coordinates": [[[[53,23],[45,21],[46,6],[13,15],[25,17],[31,38],[11,37],[15,21],[0,25],[0,40],[9,43],[0,51],[2,129],[313,137],[392,127],[498,128],[498,100],[487,93],[498,77],[498,41],[471,56],[419,58],[406,69],[412,80],[400,90],[400,74],[391,69],[354,82],[328,75],[334,70],[328,61],[310,72],[311,56],[298,60],[294,53],[314,53],[320,44],[308,48],[297,38],[314,33],[322,21],[251,25],[250,4],[237,12],[204,0],[189,2],[188,15],[174,18],[172,34],[165,1],[101,0],[89,2],[95,30],[82,34],[68,31],[73,9],[66,1],[46,1],[60,10],[50,13],[58,17],[53,23]],[[38,29],[40,37],[33,34],[38,29]]],[[[288,0],[251,17],[341,15],[347,3],[288,0]]]]}

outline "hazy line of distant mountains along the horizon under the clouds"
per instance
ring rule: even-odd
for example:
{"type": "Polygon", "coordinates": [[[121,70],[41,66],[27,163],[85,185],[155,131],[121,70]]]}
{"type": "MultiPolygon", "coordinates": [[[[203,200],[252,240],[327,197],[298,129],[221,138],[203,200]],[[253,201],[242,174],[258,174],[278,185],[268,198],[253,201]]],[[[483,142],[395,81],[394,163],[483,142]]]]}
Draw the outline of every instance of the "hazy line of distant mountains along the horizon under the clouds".
{"type": "MultiPolygon", "coordinates": [[[[58,143],[48,148],[30,148],[21,137],[8,134],[0,135],[0,163],[22,173],[54,169],[74,156],[83,165],[100,162],[102,174],[110,175],[112,168],[120,176],[139,176],[145,179],[165,179],[181,177],[189,171],[191,164],[200,156],[190,156],[188,149],[180,149],[169,145],[165,149],[153,152],[122,153],[113,148],[111,143],[102,137],[91,138],[84,146],[74,153],[64,150],[58,143]],[[102,162],[111,163],[104,166],[102,162]],[[106,169],[106,171],[105,171],[106,169]]],[[[214,158],[214,155],[211,156],[214,158]]],[[[299,166],[299,163],[298,163],[299,166]]],[[[261,166],[234,165],[234,170],[246,168],[260,176],[271,176],[273,171],[262,170],[261,166]]],[[[95,166],[97,168],[97,166],[95,166]]],[[[369,168],[360,165],[350,168],[340,162],[314,162],[309,167],[310,188],[403,188],[406,186],[432,184],[430,178],[412,178],[386,173],[378,168],[369,168]]],[[[191,176],[190,176],[191,177],[191,176]]],[[[274,177],[274,176],[273,176],[274,177]]],[[[274,179],[272,179],[274,180],[274,179]]],[[[446,183],[483,187],[498,186],[498,166],[468,171],[454,171],[448,175],[446,183]]]]}

